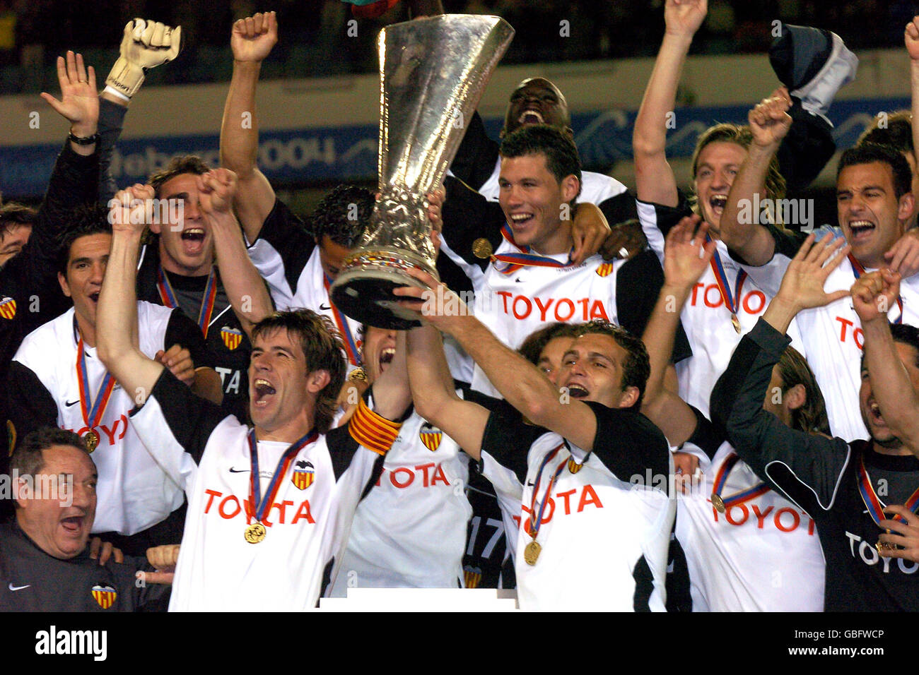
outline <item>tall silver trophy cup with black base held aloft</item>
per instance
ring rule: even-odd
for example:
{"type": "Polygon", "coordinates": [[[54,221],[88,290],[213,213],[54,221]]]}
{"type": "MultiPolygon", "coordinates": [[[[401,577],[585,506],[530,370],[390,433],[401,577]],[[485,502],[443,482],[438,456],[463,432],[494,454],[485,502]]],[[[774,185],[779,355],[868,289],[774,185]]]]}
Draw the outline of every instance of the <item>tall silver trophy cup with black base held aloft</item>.
{"type": "Polygon", "coordinates": [[[392,289],[437,276],[426,195],[440,185],[495,65],[514,37],[500,17],[461,14],[383,28],[380,51],[380,198],[331,295],[349,317],[404,330],[418,325],[392,289]]]}

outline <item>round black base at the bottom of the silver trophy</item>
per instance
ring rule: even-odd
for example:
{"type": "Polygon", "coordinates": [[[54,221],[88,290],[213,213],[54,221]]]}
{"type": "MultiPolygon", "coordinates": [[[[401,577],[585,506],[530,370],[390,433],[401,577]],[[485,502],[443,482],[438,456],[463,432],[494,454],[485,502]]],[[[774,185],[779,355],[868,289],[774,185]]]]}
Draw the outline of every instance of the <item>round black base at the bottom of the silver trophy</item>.
{"type": "Polygon", "coordinates": [[[399,307],[405,298],[394,295],[393,288],[422,284],[398,268],[356,266],[346,269],[335,279],[329,295],[335,306],[345,314],[368,326],[407,331],[421,323],[414,319],[414,313],[399,307]]]}

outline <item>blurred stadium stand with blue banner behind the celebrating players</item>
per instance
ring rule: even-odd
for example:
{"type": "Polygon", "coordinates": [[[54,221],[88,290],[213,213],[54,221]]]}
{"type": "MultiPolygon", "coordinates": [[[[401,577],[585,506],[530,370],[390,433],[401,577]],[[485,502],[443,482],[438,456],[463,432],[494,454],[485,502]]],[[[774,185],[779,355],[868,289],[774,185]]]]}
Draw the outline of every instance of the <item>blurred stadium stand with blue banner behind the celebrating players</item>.
{"type": "MultiPolygon", "coordinates": [[[[479,107],[496,137],[507,96],[521,79],[550,78],[567,96],[584,168],[633,186],[631,128],[663,36],[663,0],[444,0],[448,12],[497,14],[516,37],[479,107]]],[[[873,117],[909,107],[909,59],[902,27],[908,0],[709,0],[693,42],[668,134],[667,154],[687,186],[698,133],[713,121],[743,122],[777,86],[766,50],[786,23],[829,28],[856,51],[857,80],[836,97],[830,118],[839,148],[873,117]]],[[[35,202],[44,191],[65,122],[38,93],[57,94],[54,59],[82,51],[100,87],[131,17],[183,27],[185,48],[151,71],[131,103],[112,164],[121,185],[142,181],[179,152],[216,163],[234,18],[276,9],[279,41],[263,64],[258,91],[259,165],[295,210],[308,214],[343,181],[372,186],[377,153],[374,40],[406,17],[403,5],[380,19],[353,19],[339,0],[0,0],[0,191],[35,202]]],[[[833,212],[835,161],[809,196],[833,212]]],[[[818,225],[820,223],[817,223],[818,225]]]]}

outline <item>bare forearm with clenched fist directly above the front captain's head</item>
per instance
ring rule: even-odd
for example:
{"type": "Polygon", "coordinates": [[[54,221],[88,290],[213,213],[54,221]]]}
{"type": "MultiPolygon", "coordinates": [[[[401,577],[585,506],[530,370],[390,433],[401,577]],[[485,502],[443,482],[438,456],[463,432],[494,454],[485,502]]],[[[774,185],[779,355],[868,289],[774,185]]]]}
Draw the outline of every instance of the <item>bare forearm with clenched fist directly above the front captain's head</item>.
{"type": "Polygon", "coordinates": [[[268,289],[245,251],[239,223],[233,216],[233,199],[240,186],[229,169],[199,175],[201,212],[214,233],[214,250],[221,271],[221,283],[233,312],[246,334],[273,311],[268,289]]]}

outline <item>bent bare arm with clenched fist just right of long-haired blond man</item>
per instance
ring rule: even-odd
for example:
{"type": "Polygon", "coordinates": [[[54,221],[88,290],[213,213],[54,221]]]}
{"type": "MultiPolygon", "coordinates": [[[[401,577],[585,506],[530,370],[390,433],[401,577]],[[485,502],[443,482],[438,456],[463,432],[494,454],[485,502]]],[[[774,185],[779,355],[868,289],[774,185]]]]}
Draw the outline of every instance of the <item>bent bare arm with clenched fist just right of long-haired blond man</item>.
{"type": "Polygon", "coordinates": [[[744,261],[757,266],[772,260],[776,240],[759,223],[759,214],[753,213],[753,205],[766,198],[769,164],[791,128],[791,116],[787,112],[790,107],[791,97],[782,87],[750,111],[747,118],[753,132],[753,142],[734,177],[728,201],[721,214],[721,240],[740,253],[744,261]],[[759,199],[755,198],[757,196],[759,199]]]}

